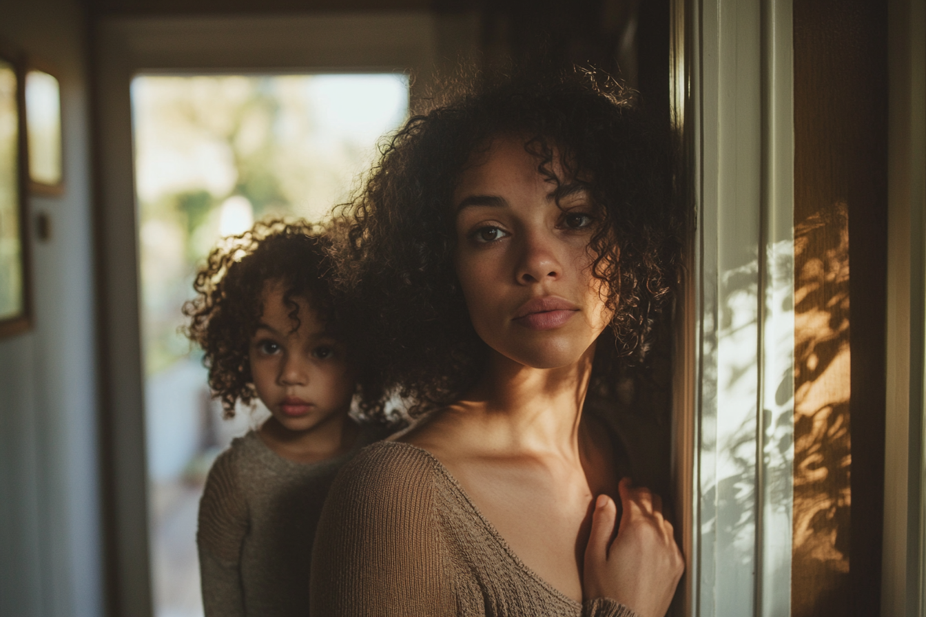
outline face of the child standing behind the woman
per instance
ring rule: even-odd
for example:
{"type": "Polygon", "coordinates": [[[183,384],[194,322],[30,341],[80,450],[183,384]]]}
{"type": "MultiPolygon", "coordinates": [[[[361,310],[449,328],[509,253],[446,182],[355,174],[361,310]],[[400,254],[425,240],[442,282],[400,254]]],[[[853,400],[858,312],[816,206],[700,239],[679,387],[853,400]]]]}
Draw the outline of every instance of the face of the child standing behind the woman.
{"type": "Polygon", "coordinates": [[[293,299],[300,322],[293,329],[284,291],[279,283],[264,290],[264,313],[250,345],[251,376],[260,400],[282,426],[307,431],[346,417],[355,379],[344,345],[325,333],[305,299],[293,299]]]}

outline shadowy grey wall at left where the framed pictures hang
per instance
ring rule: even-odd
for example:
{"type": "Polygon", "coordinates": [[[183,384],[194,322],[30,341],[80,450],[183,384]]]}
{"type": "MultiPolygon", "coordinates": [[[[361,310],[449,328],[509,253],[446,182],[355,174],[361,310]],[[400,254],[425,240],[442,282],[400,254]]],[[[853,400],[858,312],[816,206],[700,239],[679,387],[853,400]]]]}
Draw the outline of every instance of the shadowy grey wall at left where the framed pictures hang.
{"type": "Polygon", "coordinates": [[[4,3],[0,39],[61,85],[60,197],[31,198],[34,327],[0,340],[0,615],[102,614],[94,273],[84,16],[74,0],[4,3]]]}

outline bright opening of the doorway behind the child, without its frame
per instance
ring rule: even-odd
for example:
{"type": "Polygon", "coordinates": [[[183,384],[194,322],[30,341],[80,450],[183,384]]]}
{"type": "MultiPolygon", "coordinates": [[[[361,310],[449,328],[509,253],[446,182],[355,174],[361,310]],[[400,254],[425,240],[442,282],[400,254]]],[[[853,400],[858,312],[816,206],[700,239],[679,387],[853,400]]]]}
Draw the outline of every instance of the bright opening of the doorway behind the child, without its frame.
{"type": "Polygon", "coordinates": [[[202,615],[206,474],[259,403],[222,419],[182,334],[197,267],[255,220],[323,222],[406,119],[405,73],[139,75],[131,82],[151,584],[157,617],[202,615]]]}

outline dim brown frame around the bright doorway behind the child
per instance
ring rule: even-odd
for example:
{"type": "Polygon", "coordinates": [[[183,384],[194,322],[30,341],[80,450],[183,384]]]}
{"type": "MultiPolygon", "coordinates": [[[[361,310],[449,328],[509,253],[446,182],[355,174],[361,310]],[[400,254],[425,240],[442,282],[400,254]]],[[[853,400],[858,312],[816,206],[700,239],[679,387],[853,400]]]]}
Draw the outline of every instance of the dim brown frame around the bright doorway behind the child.
{"type": "Polygon", "coordinates": [[[476,49],[478,20],[426,12],[103,18],[94,35],[106,596],[110,615],[150,617],[131,80],[141,73],[407,71],[414,98],[448,46],[476,49]]]}

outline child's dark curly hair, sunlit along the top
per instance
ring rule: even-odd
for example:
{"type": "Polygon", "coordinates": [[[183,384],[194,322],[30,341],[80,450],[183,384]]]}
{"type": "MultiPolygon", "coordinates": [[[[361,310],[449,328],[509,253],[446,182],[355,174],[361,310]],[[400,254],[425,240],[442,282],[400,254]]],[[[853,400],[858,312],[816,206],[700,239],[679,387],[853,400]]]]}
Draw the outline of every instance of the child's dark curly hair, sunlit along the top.
{"type": "Polygon", "coordinates": [[[205,352],[209,389],[222,402],[225,417],[234,415],[236,401],[257,398],[248,352],[268,282],[282,282],[294,327],[299,327],[295,299],[304,298],[336,335],[330,249],[330,239],[306,221],[271,219],[224,239],[196,273],[196,297],[183,304],[190,322],[182,332],[205,352]]]}

